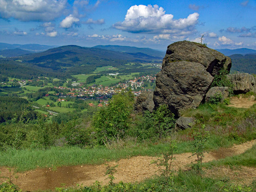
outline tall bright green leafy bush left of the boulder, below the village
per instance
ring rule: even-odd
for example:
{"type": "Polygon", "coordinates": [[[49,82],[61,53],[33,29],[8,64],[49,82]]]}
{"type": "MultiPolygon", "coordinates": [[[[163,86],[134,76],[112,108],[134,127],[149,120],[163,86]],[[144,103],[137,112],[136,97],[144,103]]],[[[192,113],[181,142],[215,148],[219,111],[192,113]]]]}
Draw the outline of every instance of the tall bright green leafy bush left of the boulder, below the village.
{"type": "Polygon", "coordinates": [[[107,141],[124,137],[129,126],[130,112],[133,109],[134,95],[131,91],[114,95],[109,105],[102,107],[93,117],[93,126],[99,140],[107,141]]]}

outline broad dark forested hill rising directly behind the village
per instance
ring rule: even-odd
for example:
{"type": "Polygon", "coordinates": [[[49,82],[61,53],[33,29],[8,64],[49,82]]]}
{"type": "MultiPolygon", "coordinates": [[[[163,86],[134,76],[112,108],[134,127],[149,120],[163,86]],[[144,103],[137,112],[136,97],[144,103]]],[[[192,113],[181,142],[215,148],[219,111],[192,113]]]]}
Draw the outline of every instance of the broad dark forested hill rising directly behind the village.
{"type": "Polygon", "coordinates": [[[24,56],[21,60],[44,66],[79,66],[84,64],[96,64],[101,66],[120,65],[127,61],[151,62],[161,60],[160,57],[149,55],[131,55],[99,48],[80,47],[67,45],[53,48],[45,52],[24,56]]]}

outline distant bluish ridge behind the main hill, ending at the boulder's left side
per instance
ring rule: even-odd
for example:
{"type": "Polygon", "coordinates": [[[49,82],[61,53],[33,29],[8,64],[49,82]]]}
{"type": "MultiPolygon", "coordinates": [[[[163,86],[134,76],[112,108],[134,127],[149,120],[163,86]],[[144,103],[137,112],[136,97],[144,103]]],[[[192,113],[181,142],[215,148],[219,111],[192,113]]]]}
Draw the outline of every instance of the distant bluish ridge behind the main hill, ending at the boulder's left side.
{"type": "Polygon", "coordinates": [[[105,50],[125,52],[125,53],[142,53],[142,54],[157,56],[161,58],[165,56],[165,52],[153,50],[150,48],[140,48],[140,47],[130,47],[130,46],[120,46],[120,45],[97,45],[94,48],[101,48],[105,50]]]}

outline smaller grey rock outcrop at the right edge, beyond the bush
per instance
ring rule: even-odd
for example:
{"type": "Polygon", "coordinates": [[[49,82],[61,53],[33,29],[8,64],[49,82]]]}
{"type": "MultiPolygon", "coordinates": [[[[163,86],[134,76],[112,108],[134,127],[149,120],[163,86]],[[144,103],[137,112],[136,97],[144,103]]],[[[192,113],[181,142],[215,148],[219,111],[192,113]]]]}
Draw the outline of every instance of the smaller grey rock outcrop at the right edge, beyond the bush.
{"type": "Polygon", "coordinates": [[[234,84],[235,94],[253,91],[256,93],[256,78],[248,73],[237,73],[228,75],[230,81],[234,84]]]}

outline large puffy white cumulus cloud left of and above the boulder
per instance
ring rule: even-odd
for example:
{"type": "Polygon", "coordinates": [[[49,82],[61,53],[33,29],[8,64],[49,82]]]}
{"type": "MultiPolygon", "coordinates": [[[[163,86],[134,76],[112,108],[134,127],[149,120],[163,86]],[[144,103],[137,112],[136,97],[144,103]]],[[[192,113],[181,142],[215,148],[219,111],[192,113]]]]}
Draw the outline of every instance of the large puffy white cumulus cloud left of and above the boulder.
{"type": "Polygon", "coordinates": [[[198,23],[199,14],[190,14],[184,19],[173,19],[173,14],[165,14],[158,5],[134,5],[126,13],[123,22],[113,25],[114,28],[131,33],[192,33],[198,23]]]}

